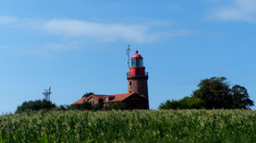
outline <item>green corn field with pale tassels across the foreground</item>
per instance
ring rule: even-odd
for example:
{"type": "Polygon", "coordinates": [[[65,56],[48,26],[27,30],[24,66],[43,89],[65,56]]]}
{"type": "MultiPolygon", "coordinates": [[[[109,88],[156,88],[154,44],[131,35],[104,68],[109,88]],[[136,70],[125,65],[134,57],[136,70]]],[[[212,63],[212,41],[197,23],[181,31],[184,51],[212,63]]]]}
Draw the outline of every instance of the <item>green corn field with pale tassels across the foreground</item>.
{"type": "Polygon", "coordinates": [[[0,142],[256,142],[256,111],[17,113],[0,128],[0,142]]]}

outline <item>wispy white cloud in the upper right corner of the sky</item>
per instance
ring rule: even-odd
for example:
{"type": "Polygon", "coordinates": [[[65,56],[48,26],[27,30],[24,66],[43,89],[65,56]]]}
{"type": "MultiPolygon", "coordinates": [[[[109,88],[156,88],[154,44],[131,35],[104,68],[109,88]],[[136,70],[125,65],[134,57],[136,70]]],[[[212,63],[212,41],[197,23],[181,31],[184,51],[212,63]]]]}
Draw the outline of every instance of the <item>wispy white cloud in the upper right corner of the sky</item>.
{"type": "Polygon", "coordinates": [[[210,18],[217,20],[256,21],[256,0],[231,0],[229,6],[217,7],[210,18]]]}

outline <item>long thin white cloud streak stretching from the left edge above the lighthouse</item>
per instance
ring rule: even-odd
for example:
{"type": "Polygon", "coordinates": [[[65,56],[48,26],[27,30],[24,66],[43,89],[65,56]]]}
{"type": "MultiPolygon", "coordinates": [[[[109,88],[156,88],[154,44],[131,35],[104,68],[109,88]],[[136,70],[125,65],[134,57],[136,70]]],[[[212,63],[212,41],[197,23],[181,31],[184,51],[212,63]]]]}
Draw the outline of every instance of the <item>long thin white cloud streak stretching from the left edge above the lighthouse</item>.
{"type": "Polygon", "coordinates": [[[170,22],[157,21],[142,24],[101,23],[78,19],[49,20],[0,16],[0,24],[11,24],[15,28],[42,30],[65,38],[86,38],[95,42],[156,42],[169,37],[186,36],[184,30],[164,30],[170,22]],[[158,30],[158,29],[162,30],[158,30]]]}

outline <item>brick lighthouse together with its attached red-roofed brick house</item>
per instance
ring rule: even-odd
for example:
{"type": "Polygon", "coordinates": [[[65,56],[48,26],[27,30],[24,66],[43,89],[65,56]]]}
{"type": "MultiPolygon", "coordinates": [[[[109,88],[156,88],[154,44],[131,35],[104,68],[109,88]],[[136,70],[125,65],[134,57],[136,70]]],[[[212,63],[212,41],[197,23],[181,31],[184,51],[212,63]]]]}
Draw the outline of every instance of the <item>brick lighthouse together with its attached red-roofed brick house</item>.
{"type": "MultiPolygon", "coordinates": [[[[129,49],[128,49],[129,51],[129,49]]],[[[143,66],[143,57],[136,51],[131,57],[131,66],[128,61],[128,93],[114,95],[97,95],[81,98],[72,104],[80,104],[84,101],[91,102],[92,105],[102,103],[104,106],[112,102],[124,102],[130,109],[149,109],[148,95],[148,73],[143,66]]]]}

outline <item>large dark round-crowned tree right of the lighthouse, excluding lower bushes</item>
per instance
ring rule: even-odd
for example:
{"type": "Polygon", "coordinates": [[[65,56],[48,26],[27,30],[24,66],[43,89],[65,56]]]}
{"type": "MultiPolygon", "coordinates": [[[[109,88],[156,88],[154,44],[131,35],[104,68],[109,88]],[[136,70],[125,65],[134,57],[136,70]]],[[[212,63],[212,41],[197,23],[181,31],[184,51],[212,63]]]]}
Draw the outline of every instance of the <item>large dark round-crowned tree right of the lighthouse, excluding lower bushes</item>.
{"type": "Polygon", "coordinates": [[[203,79],[198,87],[200,89],[195,90],[192,97],[205,101],[207,109],[250,109],[254,105],[247,89],[238,85],[230,89],[226,77],[203,79]]]}

